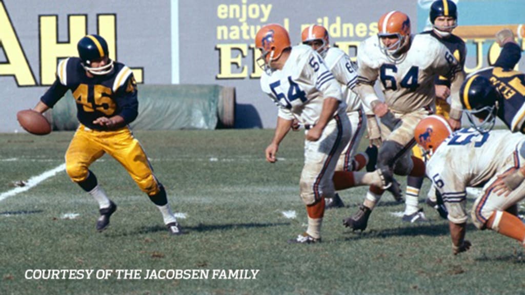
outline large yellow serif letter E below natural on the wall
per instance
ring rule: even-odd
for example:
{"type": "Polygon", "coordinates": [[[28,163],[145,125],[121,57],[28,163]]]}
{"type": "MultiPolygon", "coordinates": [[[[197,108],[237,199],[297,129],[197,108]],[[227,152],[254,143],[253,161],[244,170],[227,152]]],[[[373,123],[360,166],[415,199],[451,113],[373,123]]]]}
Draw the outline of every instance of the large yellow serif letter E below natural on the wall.
{"type": "Polygon", "coordinates": [[[218,44],[215,47],[219,50],[219,73],[215,76],[216,79],[241,79],[248,76],[248,69],[242,66],[242,59],[246,57],[248,46],[246,44],[218,44]],[[232,51],[238,50],[240,53],[236,57],[232,57],[232,51]],[[232,65],[241,68],[240,72],[232,72],[232,65]]]}

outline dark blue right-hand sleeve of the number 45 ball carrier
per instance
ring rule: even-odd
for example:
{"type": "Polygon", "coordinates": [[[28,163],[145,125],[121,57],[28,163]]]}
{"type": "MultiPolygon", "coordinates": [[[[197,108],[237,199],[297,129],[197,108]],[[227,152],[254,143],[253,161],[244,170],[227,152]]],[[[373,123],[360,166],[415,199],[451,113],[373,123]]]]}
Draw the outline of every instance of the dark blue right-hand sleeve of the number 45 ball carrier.
{"type": "Polygon", "coordinates": [[[116,102],[119,106],[120,115],[124,118],[124,122],[129,124],[137,119],[139,115],[139,100],[137,94],[137,83],[133,74],[128,77],[128,80],[117,91],[116,102]]]}

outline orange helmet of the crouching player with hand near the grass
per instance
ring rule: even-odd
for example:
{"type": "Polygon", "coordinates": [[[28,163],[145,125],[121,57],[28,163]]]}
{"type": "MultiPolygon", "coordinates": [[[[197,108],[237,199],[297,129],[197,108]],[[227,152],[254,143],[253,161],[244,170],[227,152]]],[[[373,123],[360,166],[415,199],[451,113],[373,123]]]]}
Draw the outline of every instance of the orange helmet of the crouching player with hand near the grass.
{"type": "Polygon", "coordinates": [[[419,121],[414,130],[417,144],[429,155],[432,155],[450,134],[452,134],[450,125],[440,115],[429,115],[419,121]]]}

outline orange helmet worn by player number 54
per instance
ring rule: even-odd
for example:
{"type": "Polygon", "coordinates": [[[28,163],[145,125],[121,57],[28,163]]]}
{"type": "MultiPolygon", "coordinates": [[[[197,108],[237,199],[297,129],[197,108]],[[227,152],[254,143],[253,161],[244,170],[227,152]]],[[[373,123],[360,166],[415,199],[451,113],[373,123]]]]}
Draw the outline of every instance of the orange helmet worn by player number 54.
{"type": "Polygon", "coordinates": [[[278,59],[282,51],[290,48],[288,31],[279,24],[262,26],[255,35],[255,47],[261,51],[257,65],[266,72],[271,71],[270,62],[278,59]]]}

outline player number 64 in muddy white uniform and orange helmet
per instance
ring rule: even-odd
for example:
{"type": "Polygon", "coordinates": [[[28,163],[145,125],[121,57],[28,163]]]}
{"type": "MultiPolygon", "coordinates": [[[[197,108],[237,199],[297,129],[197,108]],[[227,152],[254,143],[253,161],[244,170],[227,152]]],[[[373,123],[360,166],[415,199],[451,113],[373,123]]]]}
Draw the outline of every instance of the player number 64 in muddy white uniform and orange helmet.
{"type": "MultiPolygon", "coordinates": [[[[391,11],[381,16],[379,33],[364,40],[358,48],[358,84],[355,89],[363,102],[381,121],[383,143],[377,168],[384,170],[386,182],[393,173],[423,177],[425,165],[411,157],[416,124],[435,110],[434,78],[444,76],[451,82],[453,103],[460,106],[457,93],[463,73],[458,61],[445,45],[428,34],[411,35],[408,16],[391,11]],[[385,101],[379,100],[373,85],[379,79],[385,101]]],[[[454,108],[454,104],[453,104],[454,108]]],[[[461,114],[461,108],[454,109],[461,114]]],[[[460,118],[460,117],[458,117],[460,118]]],[[[363,205],[344,225],[364,230],[379,202],[383,189],[371,186],[363,205]]],[[[398,200],[401,201],[401,198],[398,200]]]]}

